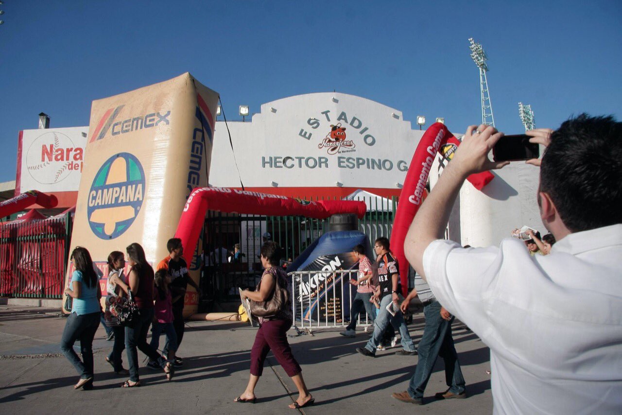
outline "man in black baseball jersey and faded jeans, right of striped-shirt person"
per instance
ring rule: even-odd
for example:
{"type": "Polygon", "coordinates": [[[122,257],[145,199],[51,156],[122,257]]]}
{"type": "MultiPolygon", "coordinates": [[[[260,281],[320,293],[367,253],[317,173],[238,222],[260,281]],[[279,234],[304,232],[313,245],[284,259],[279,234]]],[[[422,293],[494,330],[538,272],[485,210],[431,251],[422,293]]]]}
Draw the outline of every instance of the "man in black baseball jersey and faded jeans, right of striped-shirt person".
{"type": "Polygon", "coordinates": [[[374,243],[374,250],[378,255],[378,287],[376,287],[376,297],[380,300],[380,310],[378,317],[374,321],[374,334],[369,339],[365,347],[357,347],[356,352],[363,356],[376,357],[376,348],[383,338],[384,330],[389,324],[399,327],[399,334],[402,338],[403,350],[398,350],[396,355],[416,355],[415,345],[412,342],[408,327],[404,323],[404,316],[398,309],[399,301],[399,268],[396,259],[389,251],[389,240],[378,238],[374,243]],[[393,304],[396,309],[395,315],[391,315],[387,310],[389,304],[393,304]]]}

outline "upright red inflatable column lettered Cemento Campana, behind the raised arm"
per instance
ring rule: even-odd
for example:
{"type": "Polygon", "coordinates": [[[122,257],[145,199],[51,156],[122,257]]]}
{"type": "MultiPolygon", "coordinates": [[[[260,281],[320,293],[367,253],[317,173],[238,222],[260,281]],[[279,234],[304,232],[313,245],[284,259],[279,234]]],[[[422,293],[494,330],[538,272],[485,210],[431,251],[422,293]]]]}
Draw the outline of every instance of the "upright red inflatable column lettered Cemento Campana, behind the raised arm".
{"type": "MultiPolygon", "coordinates": [[[[428,128],[412,156],[411,166],[406,173],[404,187],[399,194],[399,205],[393,220],[391,232],[391,251],[399,264],[402,293],[406,297],[408,291],[408,262],[404,255],[404,240],[411,226],[412,219],[423,202],[425,184],[427,183],[432,163],[436,154],[440,154],[448,161],[453,158],[453,152],[460,146],[458,141],[442,123],[434,123],[428,128]]],[[[471,174],[467,180],[476,189],[481,190],[494,179],[491,172],[471,174]]]]}

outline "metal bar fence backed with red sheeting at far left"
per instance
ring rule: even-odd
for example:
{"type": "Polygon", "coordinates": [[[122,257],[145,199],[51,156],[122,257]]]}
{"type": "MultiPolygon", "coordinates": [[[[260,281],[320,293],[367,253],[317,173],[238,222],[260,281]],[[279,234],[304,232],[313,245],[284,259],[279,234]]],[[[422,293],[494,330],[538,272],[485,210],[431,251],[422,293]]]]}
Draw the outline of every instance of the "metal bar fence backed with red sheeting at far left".
{"type": "Polygon", "coordinates": [[[73,218],[0,225],[0,296],[60,299],[73,218]]]}

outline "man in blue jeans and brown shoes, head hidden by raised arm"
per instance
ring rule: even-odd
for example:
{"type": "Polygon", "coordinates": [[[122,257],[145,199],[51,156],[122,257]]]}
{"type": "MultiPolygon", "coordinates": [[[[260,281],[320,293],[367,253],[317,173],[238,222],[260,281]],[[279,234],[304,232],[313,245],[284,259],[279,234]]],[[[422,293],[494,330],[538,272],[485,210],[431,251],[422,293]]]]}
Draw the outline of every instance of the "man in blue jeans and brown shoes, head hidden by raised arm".
{"type": "Polygon", "coordinates": [[[445,382],[448,389],[435,394],[434,397],[436,399],[466,398],[465,379],[460,370],[458,353],[453,346],[452,323],[455,317],[440,305],[428,284],[420,276],[415,277],[414,289],[402,301],[402,311],[405,312],[408,309],[409,303],[417,294],[425,305],[424,334],[417,348],[419,361],[417,361],[417,368],[412,375],[408,390],[392,393],[391,396],[402,402],[422,404],[425,386],[432,375],[436,358],[440,356],[445,361],[445,382]]]}

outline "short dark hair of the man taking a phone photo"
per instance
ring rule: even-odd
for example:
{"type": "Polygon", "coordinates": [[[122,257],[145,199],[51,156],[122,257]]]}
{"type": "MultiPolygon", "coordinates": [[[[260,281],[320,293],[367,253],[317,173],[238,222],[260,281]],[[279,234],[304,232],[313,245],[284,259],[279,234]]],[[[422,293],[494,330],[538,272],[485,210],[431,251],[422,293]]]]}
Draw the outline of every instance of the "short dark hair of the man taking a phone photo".
{"type": "Polygon", "coordinates": [[[622,223],[622,123],[581,114],[550,136],[540,191],[572,232],[622,223]]]}

